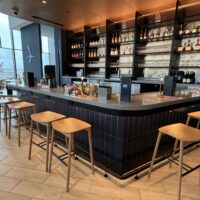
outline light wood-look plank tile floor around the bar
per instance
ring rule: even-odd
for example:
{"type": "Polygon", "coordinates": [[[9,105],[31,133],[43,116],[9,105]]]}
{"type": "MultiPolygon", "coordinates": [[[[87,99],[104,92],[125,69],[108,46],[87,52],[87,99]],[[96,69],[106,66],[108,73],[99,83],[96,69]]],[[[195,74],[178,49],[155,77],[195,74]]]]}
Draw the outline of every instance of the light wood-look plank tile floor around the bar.
{"type": "MultiPolygon", "coordinates": [[[[22,131],[22,145],[17,146],[17,131],[12,129],[8,140],[0,134],[0,200],[176,200],[177,166],[168,165],[143,176],[120,181],[96,169],[93,176],[88,166],[72,160],[70,192],[65,192],[66,167],[53,159],[52,173],[45,172],[45,152],[33,146],[32,160],[28,157],[29,132],[22,131]]],[[[184,156],[184,160],[200,163],[200,148],[184,156]]],[[[183,179],[183,200],[200,200],[199,170],[183,179]]]]}

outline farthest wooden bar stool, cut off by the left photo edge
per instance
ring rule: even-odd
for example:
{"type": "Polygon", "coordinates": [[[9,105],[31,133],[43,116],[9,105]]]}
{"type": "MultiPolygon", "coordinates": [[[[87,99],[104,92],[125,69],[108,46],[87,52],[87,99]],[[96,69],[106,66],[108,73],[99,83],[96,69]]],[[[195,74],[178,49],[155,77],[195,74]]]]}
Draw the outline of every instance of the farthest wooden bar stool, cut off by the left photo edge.
{"type": "Polygon", "coordinates": [[[17,97],[9,97],[9,96],[6,96],[6,97],[2,97],[0,98],[0,131],[1,131],[1,113],[2,111],[4,111],[4,122],[5,122],[5,128],[6,128],[6,135],[8,133],[8,125],[7,125],[7,110],[8,110],[8,104],[10,103],[15,103],[15,102],[19,102],[20,99],[18,99],[17,97]],[[2,110],[3,108],[3,110],[2,110]]]}

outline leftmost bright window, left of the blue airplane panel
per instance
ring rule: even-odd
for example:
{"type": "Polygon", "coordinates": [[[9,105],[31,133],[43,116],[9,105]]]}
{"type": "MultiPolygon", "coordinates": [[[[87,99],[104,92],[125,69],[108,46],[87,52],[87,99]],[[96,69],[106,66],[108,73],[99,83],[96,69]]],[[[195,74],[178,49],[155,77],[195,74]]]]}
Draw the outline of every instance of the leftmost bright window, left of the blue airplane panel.
{"type": "Polygon", "coordinates": [[[0,79],[22,77],[24,72],[21,32],[10,30],[9,19],[0,13],[0,79]]]}

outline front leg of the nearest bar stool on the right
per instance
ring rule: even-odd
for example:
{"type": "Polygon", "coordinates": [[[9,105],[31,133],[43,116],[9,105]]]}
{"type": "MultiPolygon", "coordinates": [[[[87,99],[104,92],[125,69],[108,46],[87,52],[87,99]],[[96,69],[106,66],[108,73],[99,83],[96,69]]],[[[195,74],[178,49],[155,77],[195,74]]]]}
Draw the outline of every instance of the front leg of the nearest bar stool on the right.
{"type": "Polygon", "coordinates": [[[178,172],[178,194],[177,194],[177,200],[181,200],[182,165],[183,165],[183,141],[180,141],[180,155],[179,155],[179,172],[178,172]]]}

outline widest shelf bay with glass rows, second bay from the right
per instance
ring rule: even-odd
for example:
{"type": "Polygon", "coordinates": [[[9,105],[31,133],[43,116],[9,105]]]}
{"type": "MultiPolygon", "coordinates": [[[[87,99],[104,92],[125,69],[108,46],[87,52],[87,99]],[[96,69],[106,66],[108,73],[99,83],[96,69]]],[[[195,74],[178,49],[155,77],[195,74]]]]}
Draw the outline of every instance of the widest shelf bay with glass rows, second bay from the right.
{"type": "Polygon", "coordinates": [[[169,74],[174,11],[161,16],[137,14],[135,79],[157,78],[169,74]],[[157,21],[155,22],[155,20],[157,21]]]}

